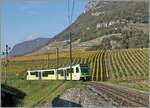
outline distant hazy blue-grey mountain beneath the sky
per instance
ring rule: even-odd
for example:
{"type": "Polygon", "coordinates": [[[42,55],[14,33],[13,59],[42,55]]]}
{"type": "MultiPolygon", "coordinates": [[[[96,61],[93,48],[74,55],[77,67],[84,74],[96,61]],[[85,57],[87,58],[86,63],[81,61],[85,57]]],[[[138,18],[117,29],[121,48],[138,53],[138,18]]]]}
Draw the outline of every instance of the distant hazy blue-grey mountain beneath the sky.
{"type": "Polygon", "coordinates": [[[34,40],[24,41],[16,44],[10,51],[11,56],[20,56],[27,53],[31,53],[39,48],[45,46],[49,42],[50,38],[37,38],[34,40]]]}

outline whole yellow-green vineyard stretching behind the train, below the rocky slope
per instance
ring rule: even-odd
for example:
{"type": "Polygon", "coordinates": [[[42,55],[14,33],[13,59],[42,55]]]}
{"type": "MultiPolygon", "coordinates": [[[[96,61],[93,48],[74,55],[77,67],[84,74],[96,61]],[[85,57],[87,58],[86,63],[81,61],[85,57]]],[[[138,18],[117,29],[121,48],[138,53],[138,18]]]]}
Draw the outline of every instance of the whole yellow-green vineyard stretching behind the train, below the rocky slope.
{"type": "MultiPolygon", "coordinates": [[[[55,68],[56,54],[51,55],[49,61],[47,55],[10,58],[8,71],[22,75],[27,69],[47,68],[48,62],[49,68],[55,68]]],[[[88,64],[94,81],[148,79],[148,60],[148,49],[73,52],[73,64],[88,64]]],[[[58,67],[69,64],[69,53],[60,52],[58,67]]]]}

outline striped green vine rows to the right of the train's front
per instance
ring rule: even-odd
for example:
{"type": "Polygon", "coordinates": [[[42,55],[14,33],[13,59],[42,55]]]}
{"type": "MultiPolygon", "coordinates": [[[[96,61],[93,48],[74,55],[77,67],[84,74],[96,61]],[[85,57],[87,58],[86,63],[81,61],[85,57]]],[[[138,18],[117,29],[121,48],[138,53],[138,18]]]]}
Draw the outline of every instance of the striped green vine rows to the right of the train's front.
{"type": "Polygon", "coordinates": [[[148,79],[148,49],[98,51],[90,55],[92,80],[148,79]]]}

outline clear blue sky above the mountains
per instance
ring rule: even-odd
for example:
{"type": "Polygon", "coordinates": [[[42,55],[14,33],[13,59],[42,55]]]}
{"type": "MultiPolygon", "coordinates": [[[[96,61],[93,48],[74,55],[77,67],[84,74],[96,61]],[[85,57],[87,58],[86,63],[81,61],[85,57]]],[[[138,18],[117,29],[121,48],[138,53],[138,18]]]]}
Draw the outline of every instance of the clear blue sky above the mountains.
{"type": "MultiPolygon", "coordinates": [[[[53,37],[68,26],[68,0],[4,0],[1,10],[2,47],[37,37],[53,37]]],[[[72,0],[70,0],[71,2],[72,0]]],[[[87,0],[75,0],[73,21],[87,0]]],[[[3,49],[3,48],[2,48],[3,49]]]]}

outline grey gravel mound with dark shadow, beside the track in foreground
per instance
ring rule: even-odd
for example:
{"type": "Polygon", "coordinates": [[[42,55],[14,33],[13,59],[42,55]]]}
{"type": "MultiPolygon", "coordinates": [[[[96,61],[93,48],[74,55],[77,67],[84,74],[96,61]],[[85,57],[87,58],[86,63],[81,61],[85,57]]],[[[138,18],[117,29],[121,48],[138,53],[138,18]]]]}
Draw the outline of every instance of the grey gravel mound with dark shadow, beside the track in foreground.
{"type": "Polygon", "coordinates": [[[72,88],[66,90],[62,95],[56,97],[48,107],[113,107],[118,106],[105,94],[97,94],[95,89],[72,88]]]}

